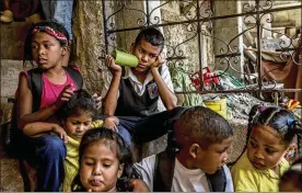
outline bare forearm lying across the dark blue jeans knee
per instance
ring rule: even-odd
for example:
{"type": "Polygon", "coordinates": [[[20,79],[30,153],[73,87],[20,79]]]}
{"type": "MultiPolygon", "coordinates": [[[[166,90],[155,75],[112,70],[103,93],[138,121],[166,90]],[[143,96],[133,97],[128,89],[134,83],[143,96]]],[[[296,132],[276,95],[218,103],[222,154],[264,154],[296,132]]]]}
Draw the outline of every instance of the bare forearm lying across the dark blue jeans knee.
{"type": "Polygon", "coordinates": [[[67,143],[67,134],[62,127],[54,123],[35,122],[26,124],[23,128],[24,135],[28,137],[40,137],[43,135],[49,135],[50,132],[56,133],[63,141],[67,143]]]}

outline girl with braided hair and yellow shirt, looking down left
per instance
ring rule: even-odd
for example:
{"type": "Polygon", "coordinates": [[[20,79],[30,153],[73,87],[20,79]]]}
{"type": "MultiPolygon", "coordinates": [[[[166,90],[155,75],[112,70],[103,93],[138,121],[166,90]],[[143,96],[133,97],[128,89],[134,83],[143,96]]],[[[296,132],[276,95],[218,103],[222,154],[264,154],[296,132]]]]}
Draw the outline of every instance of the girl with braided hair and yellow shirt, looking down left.
{"type": "Polygon", "coordinates": [[[279,179],[289,169],[284,155],[301,130],[297,123],[295,116],[282,107],[252,107],[246,150],[232,167],[235,191],[278,191],[279,179]]]}

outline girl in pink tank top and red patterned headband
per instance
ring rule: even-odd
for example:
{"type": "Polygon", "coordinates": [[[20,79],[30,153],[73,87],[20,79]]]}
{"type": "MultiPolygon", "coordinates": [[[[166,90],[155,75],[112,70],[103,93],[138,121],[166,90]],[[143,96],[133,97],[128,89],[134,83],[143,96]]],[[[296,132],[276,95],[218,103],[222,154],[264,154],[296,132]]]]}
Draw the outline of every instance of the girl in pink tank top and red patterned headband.
{"type": "MultiPolygon", "coordinates": [[[[18,128],[28,123],[58,123],[55,112],[68,101],[83,79],[78,69],[63,68],[62,58],[69,46],[68,32],[56,22],[34,24],[24,44],[24,64],[33,60],[37,68],[20,73],[16,91],[18,128]]],[[[56,135],[24,139],[22,151],[37,168],[37,191],[59,191],[63,179],[65,143],[56,135]],[[26,149],[25,149],[26,148],[26,149]],[[43,160],[43,161],[42,161],[43,160]]]]}

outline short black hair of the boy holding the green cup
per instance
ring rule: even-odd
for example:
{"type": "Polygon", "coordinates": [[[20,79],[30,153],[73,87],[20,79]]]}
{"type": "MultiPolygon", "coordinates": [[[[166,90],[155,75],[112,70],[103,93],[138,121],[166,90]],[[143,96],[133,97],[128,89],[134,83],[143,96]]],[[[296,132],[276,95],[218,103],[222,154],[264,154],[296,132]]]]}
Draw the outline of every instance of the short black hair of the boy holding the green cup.
{"type": "Polygon", "coordinates": [[[164,46],[163,34],[158,29],[148,27],[148,29],[140,31],[140,33],[138,34],[138,36],[136,38],[135,46],[138,45],[142,38],[146,39],[152,46],[159,46],[161,48],[163,48],[163,46],[164,46]]]}

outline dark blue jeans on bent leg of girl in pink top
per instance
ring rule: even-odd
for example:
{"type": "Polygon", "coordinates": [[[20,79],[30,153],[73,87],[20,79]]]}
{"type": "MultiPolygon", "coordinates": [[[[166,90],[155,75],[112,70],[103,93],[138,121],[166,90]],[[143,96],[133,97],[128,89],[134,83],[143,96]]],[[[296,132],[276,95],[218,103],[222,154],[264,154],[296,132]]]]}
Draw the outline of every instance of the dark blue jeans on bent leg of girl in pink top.
{"type": "Polygon", "coordinates": [[[63,182],[67,149],[62,139],[46,135],[30,139],[32,152],[27,161],[37,170],[38,192],[59,192],[63,182]]]}

